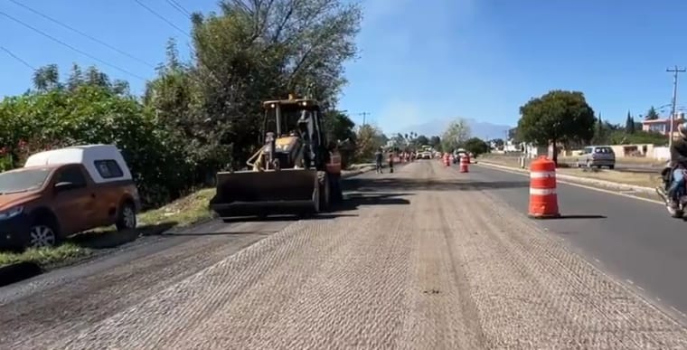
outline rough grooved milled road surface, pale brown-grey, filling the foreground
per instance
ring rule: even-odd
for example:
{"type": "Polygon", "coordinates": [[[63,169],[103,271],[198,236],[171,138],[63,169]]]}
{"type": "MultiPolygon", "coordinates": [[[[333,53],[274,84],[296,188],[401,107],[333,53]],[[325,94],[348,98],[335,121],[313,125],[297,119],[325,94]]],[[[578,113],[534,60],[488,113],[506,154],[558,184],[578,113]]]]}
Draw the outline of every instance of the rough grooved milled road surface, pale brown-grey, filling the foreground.
{"type": "Polygon", "coordinates": [[[0,348],[687,348],[501,199],[525,178],[475,175],[419,161],[320,220],[212,222],[0,289],[0,348]]]}

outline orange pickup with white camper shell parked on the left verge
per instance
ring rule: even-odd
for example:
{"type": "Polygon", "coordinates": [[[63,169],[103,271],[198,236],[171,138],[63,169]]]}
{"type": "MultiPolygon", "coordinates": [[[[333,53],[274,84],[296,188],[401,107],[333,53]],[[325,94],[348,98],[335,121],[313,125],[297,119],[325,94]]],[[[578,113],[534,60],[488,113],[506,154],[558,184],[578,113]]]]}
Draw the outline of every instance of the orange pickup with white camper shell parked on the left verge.
{"type": "Polygon", "coordinates": [[[74,233],[115,224],[136,228],[140,198],[111,145],[68,147],[29,156],[0,174],[0,246],[52,246],[74,233]]]}

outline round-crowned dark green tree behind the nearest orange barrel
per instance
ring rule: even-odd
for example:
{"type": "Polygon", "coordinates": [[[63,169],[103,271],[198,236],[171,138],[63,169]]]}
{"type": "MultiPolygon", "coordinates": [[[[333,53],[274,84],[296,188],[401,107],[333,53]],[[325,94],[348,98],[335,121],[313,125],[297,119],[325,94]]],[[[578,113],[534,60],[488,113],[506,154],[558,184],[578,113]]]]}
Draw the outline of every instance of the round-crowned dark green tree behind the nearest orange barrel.
{"type": "MultiPolygon", "coordinates": [[[[582,92],[551,90],[520,108],[518,135],[539,146],[588,142],[594,137],[596,118],[582,92]]],[[[558,161],[558,152],[553,153],[558,161]]]]}

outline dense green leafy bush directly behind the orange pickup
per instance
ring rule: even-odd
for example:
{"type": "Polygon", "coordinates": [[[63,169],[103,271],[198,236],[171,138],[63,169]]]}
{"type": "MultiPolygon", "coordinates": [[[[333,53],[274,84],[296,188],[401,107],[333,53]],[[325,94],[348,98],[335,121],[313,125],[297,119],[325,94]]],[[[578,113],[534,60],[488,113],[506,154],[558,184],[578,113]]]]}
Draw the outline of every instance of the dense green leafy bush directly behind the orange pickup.
{"type": "Polygon", "coordinates": [[[6,157],[0,166],[23,166],[27,156],[59,147],[113,144],[121,151],[146,207],[167,203],[193,185],[184,148],[136,99],[94,86],[5,99],[0,131],[6,157]],[[14,164],[13,164],[14,163],[14,164]]]}

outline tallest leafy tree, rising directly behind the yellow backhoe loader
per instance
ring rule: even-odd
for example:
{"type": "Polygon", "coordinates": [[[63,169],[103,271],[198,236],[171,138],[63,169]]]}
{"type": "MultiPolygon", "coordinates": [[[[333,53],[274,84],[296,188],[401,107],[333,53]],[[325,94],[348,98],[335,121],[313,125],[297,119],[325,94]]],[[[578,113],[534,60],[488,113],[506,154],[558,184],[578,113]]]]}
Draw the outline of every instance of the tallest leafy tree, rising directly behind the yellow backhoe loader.
{"type": "Polygon", "coordinates": [[[338,0],[222,1],[220,14],[193,15],[193,77],[201,110],[233,162],[257,147],[260,101],[289,92],[334,107],[343,62],[357,52],[359,5],[338,0]]]}

